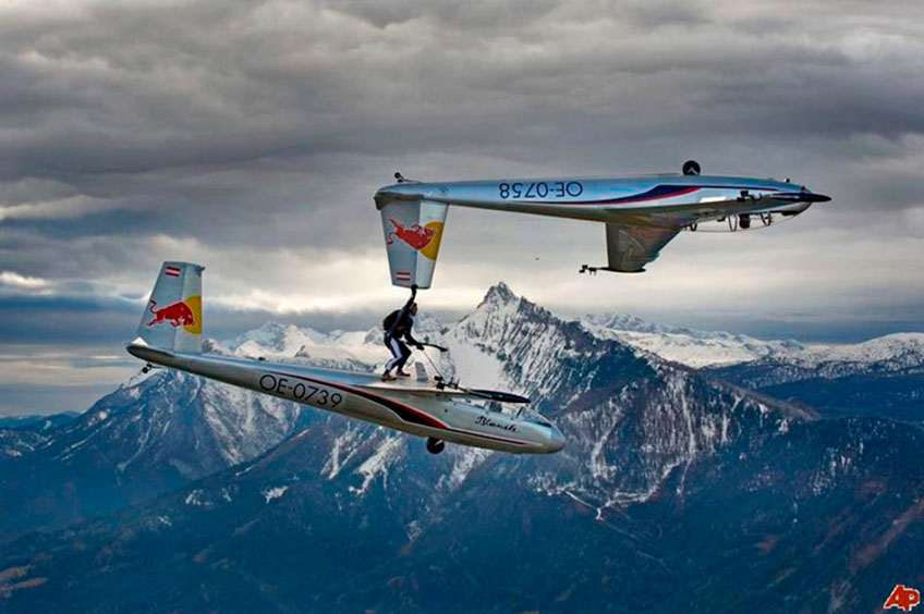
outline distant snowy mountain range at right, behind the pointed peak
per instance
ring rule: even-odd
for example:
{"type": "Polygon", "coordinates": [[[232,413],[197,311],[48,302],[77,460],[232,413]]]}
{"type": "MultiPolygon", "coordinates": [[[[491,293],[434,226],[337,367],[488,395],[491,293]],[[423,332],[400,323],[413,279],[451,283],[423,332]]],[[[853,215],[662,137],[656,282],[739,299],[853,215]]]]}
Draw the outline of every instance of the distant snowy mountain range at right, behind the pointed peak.
{"type": "Polygon", "coordinates": [[[661,327],[627,316],[587,316],[582,324],[598,336],[826,415],[924,420],[924,333],[807,345],[661,327]]]}

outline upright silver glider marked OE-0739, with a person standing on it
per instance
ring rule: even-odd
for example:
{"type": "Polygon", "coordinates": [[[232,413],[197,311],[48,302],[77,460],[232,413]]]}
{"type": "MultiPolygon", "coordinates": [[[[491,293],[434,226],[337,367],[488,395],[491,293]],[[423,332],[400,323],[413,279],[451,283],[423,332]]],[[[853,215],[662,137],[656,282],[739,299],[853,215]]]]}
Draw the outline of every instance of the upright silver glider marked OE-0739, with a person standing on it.
{"type": "Polygon", "coordinates": [[[202,353],[203,267],[165,262],[142,321],[133,356],[198,376],[352,418],[427,438],[427,450],[446,441],[514,453],[545,454],[564,446],[548,420],[530,409],[530,400],[487,390],[469,390],[442,380],[385,383],[375,373],[320,369],[292,363],[202,353]],[[501,404],[518,404],[504,413],[501,404]]]}

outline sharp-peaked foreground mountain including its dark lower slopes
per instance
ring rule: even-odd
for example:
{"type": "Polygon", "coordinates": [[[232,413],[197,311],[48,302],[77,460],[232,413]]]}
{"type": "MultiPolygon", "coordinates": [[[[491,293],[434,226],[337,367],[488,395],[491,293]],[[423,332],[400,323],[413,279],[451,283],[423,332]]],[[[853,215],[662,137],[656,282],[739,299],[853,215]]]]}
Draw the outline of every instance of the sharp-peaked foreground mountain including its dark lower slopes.
{"type": "Polygon", "coordinates": [[[854,611],[919,561],[921,429],[818,420],[502,285],[436,333],[451,347],[442,368],[532,395],[566,450],[433,456],[318,413],[254,461],[17,542],[0,554],[0,574],[16,569],[5,604],[854,611]]]}

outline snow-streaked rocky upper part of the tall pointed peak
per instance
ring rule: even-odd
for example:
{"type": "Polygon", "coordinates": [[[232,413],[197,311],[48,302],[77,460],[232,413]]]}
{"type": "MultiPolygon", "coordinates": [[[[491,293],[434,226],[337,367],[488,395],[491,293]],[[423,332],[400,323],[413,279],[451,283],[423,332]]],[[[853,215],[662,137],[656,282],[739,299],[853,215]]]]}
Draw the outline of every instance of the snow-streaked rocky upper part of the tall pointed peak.
{"type": "Polygon", "coordinates": [[[567,468],[539,470],[535,488],[598,509],[647,500],[676,469],[743,431],[783,433],[814,417],[705,384],[693,371],[562,321],[502,283],[448,327],[445,341],[463,381],[525,394],[562,429],[567,468]]]}

